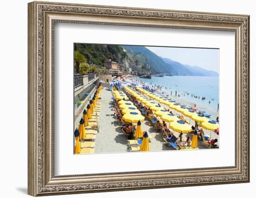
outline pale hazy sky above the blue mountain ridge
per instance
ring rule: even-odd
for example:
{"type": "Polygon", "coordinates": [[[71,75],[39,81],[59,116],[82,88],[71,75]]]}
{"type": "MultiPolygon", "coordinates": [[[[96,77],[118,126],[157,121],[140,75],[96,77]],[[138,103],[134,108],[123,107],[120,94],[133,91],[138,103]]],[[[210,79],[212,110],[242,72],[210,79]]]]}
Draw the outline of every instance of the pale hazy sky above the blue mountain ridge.
{"type": "Polygon", "coordinates": [[[219,73],[219,50],[180,47],[147,47],[156,55],[170,58],[182,64],[199,66],[219,73]]]}

